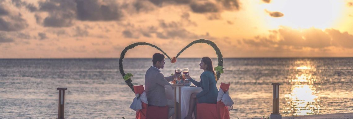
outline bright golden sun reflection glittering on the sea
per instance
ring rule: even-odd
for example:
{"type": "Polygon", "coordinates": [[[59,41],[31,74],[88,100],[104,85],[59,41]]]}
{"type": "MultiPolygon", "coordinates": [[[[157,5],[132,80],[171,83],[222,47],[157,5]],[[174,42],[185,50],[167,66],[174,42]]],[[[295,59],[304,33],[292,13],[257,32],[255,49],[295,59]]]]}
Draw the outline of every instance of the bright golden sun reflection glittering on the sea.
{"type": "Polygon", "coordinates": [[[316,91],[318,76],[316,68],[310,61],[295,61],[296,67],[289,79],[292,84],[288,94],[285,94],[286,105],[282,113],[291,115],[319,114],[320,99],[316,91]]]}

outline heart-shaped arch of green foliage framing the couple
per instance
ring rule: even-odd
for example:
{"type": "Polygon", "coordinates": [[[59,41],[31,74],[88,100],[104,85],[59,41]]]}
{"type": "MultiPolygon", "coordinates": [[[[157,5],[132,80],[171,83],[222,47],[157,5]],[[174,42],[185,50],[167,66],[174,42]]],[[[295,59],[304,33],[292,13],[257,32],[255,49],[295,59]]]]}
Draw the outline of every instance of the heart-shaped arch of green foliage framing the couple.
{"type": "MultiPolygon", "coordinates": [[[[220,49],[217,47],[217,45],[210,41],[210,40],[204,40],[204,39],[199,39],[199,40],[196,40],[196,41],[193,41],[191,43],[189,43],[187,46],[185,46],[178,54],[177,56],[175,56],[175,58],[178,58],[178,56],[184,52],[185,49],[189,48],[190,46],[192,46],[193,44],[196,44],[196,43],[206,43],[208,45],[210,45],[215,51],[216,51],[216,54],[217,54],[217,59],[218,59],[218,66],[223,66],[223,55],[220,51],[220,49]]],[[[120,54],[120,59],[119,59],[119,70],[120,70],[120,73],[122,75],[122,77],[124,78],[124,76],[126,75],[125,72],[124,72],[124,69],[122,68],[122,60],[124,59],[125,57],[125,54],[126,52],[129,50],[129,49],[132,49],[136,46],[142,46],[142,45],[148,45],[148,46],[151,46],[151,47],[154,47],[158,50],[160,50],[164,55],[166,55],[168,57],[168,59],[170,61],[172,61],[172,59],[161,49],[161,48],[158,48],[157,46],[153,45],[153,44],[150,44],[150,43],[145,43],[145,42],[137,42],[137,43],[133,43],[133,44],[130,44],[129,46],[127,46],[124,50],[122,50],[121,54],[120,54]]],[[[220,76],[221,76],[221,73],[220,71],[217,71],[216,72],[216,75],[217,75],[217,80],[219,81],[220,79],[220,76]]],[[[131,83],[132,80],[131,80],[131,77],[127,80],[125,80],[125,83],[130,87],[130,89],[132,91],[133,90],[133,84],[131,83]]]]}

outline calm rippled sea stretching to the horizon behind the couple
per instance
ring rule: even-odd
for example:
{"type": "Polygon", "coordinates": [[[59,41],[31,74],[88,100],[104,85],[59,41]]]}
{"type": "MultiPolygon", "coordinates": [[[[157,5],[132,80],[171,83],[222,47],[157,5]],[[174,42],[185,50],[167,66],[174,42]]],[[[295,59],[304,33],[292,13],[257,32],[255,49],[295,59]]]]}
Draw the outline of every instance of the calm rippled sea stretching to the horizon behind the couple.
{"type": "MultiPolygon", "coordinates": [[[[0,59],[0,118],[57,118],[58,87],[66,87],[65,118],[134,118],[134,97],[122,79],[119,59],[0,59]]],[[[169,76],[189,68],[196,80],[200,59],[166,60],[169,76]]],[[[214,66],[217,60],[213,59],[214,66]]],[[[134,85],[144,85],[151,59],[124,59],[134,85]]],[[[253,118],[272,111],[272,85],[280,86],[282,116],[353,112],[353,58],[224,59],[220,82],[231,83],[232,118],[253,118]]]]}

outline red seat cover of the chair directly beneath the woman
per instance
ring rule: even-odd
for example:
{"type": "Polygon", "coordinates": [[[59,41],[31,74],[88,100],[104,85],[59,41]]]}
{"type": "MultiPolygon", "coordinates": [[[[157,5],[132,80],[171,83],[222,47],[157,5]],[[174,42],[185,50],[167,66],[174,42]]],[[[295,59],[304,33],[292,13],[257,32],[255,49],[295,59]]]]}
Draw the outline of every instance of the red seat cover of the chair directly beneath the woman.
{"type": "Polygon", "coordinates": [[[197,119],[219,119],[216,104],[198,103],[197,119]]]}

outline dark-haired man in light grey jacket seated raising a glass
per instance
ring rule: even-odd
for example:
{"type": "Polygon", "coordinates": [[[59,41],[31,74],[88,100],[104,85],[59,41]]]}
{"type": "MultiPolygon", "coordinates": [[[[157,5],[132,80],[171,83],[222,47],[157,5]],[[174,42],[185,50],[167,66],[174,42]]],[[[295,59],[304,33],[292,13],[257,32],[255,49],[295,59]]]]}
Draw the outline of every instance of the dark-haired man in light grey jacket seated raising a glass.
{"type": "Polygon", "coordinates": [[[160,69],[163,69],[164,64],[166,64],[163,54],[153,54],[152,63],[153,66],[146,71],[145,75],[145,90],[148,105],[160,107],[168,105],[168,117],[170,118],[174,114],[174,91],[169,82],[173,81],[176,75],[164,77],[161,73],[160,69]]]}

